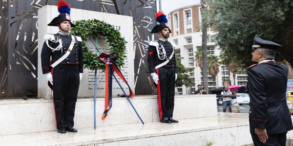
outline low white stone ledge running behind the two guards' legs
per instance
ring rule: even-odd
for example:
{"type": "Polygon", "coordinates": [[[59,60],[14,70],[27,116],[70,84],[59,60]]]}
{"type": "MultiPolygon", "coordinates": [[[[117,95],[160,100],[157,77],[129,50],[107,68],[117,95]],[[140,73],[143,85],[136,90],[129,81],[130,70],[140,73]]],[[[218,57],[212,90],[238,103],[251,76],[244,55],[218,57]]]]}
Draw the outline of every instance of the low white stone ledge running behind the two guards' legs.
{"type": "MultiPolygon", "coordinates": [[[[159,121],[157,96],[136,96],[130,100],[145,123],[159,121]]],[[[104,103],[104,98],[97,98],[97,127],[141,123],[124,97],[113,98],[113,106],[103,121],[101,118],[104,112],[104,103]]],[[[56,130],[53,100],[0,100],[0,111],[0,136],[56,130]]],[[[175,96],[174,119],[216,116],[215,95],[175,96]]],[[[93,128],[93,119],[93,98],[78,99],[74,127],[78,129],[93,128]]]]}

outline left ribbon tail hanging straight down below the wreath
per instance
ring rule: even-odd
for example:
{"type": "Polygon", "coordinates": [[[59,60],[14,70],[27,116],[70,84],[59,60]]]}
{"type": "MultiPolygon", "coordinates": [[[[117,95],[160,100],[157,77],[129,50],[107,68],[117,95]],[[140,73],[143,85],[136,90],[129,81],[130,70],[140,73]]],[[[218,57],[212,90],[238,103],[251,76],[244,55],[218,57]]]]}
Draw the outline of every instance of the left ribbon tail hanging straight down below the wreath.
{"type": "Polygon", "coordinates": [[[102,119],[105,120],[108,111],[112,107],[112,76],[113,76],[113,69],[112,69],[112,63],[109,61],[109,59],[106,62],[105,66],[105,111],[102,116],[102,119]]]}

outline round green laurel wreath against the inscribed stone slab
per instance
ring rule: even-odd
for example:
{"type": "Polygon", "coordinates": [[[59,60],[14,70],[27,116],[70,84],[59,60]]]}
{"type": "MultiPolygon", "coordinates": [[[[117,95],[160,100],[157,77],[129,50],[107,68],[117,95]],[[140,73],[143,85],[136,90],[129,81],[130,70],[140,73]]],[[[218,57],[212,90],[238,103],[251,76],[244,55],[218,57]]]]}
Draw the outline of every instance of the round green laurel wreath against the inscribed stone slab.
{"type": "MultiPolygon", "coordinates": [[[[100,60],[97,54],[93,54],[87,47],[85,40],[89,39],[90,35],[103,36],[109,42],[110,53],[117,55],[115,64],[121,68],[125,63],[126,58],[126,40],[121,37],[121,33],[116,30],[111,24],[97,19],[79,20],[76,21],[75,27],[71,29],[71,35],[82,37],[84,68],[89,70],[102,69],[105,71],[105,63],[100,60]]],[[[102,53],[102,52],[101,52],[102,53]]]]}

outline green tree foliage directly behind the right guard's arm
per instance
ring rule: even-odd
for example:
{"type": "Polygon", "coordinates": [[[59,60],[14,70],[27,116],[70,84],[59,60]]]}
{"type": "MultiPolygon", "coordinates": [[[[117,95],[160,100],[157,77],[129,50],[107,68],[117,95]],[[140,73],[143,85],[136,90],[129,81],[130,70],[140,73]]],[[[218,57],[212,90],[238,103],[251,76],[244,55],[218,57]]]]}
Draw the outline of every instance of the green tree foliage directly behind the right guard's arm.
{"type": "Polygon", "coordinates": [[[188,72],[192,72],[194,68],[186,68],[183,64],[181,64],[181,59],[183,57],[176,57],[176,66],[177,66],[177,80],[175,82],[175,87],[182,87],[185,85],[186,87],[191,87],[195,83],[190,79],[188,72]]]}

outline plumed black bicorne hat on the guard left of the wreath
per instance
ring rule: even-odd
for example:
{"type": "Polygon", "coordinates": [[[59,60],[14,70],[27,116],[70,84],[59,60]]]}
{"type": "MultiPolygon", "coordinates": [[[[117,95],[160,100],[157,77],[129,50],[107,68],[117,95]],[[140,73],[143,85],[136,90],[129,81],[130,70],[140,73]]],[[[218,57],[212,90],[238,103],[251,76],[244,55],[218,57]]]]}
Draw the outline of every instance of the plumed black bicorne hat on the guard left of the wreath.
{"type": "Polygon", "coordinates": [[[59,11],[59,15],[55,18],[53,18],[53,20],[48,24],[48,26],[57,26],[57,24],[63,22],[63,21],[69,21],[71,27],[74,27],[74,21],[71,21],[70,18],[70,7],[67,4],[67,2],[65,2],[64,0],[60,0],[58,1],[58,11],[59,11]]]}

